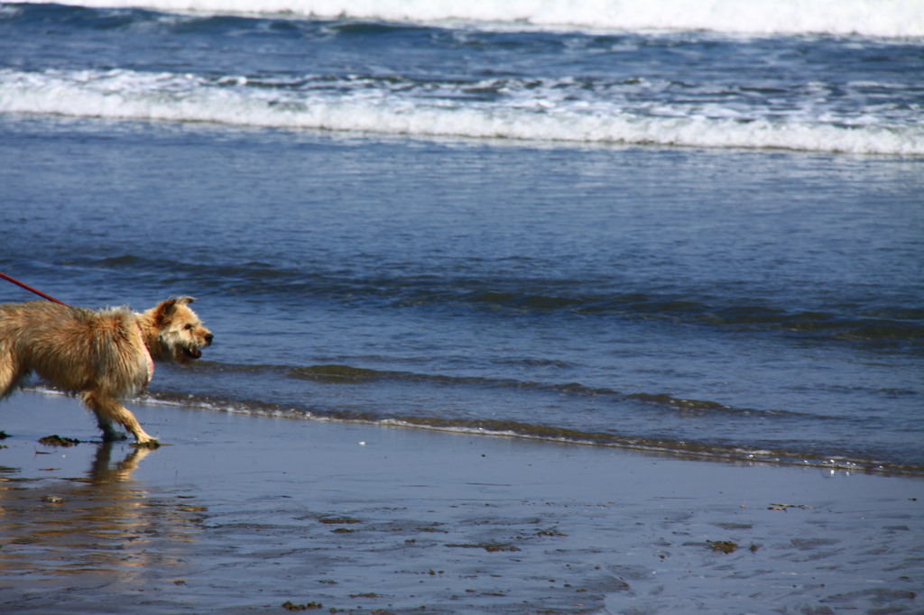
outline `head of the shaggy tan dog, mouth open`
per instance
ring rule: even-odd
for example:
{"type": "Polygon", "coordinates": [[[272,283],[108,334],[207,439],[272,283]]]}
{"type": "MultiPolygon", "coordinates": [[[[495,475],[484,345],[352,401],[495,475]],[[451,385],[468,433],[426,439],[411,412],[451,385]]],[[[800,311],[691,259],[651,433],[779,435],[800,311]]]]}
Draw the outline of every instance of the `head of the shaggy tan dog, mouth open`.
{"type": "Polygon", "coordinates": [[[153,358],[186,364],[202,356],[201,348],[212,345],[212,332],[189,308],[193,301],[191,296],[171,297],[143,314],[153,329],[144,336],[153,358]]]}

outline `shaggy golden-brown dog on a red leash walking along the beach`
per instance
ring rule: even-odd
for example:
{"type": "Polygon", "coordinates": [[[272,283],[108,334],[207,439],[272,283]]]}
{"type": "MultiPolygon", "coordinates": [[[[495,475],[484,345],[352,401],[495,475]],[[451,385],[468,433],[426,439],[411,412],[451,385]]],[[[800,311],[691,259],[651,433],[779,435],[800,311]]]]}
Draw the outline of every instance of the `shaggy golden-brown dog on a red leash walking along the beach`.
{"type": "Polygon", "coordinates": [[[38,301],[0,305],[0,398],[34,370],[56,387],[79,393],[104,440],[124,437],[113,427],[116,422],[138,444],[157,446],[118,399],[147,386],[152,359],[185,364],[212,344],[212,332],[188,307],[192,300],[173,297],[143,314],[38,301]]]}

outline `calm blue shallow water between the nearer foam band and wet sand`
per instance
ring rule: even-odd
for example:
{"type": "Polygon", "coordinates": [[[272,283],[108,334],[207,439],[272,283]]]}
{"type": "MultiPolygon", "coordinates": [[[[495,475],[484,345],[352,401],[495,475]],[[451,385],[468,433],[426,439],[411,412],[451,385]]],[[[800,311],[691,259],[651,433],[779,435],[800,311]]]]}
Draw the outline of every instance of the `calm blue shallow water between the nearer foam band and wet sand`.
{"type": "Polygon", "coordinates": [[[200,299],[216,345],[192,373],[159,368],[152,392],[924,461],[917,160],[3,130],[3,271],[78,305],[200,299]]]}

